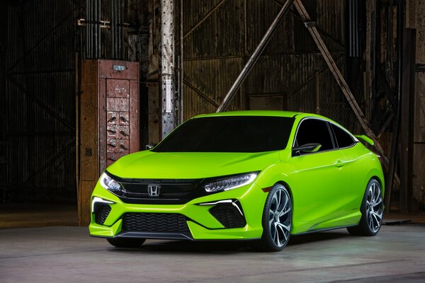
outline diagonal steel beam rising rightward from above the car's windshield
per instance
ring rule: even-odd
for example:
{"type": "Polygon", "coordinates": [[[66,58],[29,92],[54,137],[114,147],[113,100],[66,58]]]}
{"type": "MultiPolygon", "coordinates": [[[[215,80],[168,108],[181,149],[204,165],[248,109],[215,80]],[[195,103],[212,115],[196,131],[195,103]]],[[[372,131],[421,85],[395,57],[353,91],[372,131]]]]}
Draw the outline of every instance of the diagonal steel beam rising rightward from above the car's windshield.
{"type": "Polygon", "coordinates": [[[251,71],[252,67],[254,67],[254,64],[257,62],[261,54],[263,53],[264,49],[266,48],[268,42],[270,42],[271,37],[276,32],[280,22],[283,19],[283,16],[285,16],[286,13],[288,13],[290,6],[293,4],[293,0],[287,0],[285,4],[283,4],[282,8],[280,9],[278,16],[274,19],[273,23],[271,23],[270,28],[266,31],[266,34],[261,39],[259,45],[256,47],[254,52],[252,53],[251,57],[249,58],[248,62],[246,62],[246,65],[244,69],[242,69],[241,73],[237,77],[236,81],[234,81],[232,88],[230,88],[229,92],[225,96],[225,99],[222,101],[220,106],[217,108],[216,112],[223,112],[227,109],[230,102],[236,95],[239,87],[242,85],[242,83],[245,81],[246,76],[248,76],[249,72],[251,71]]]}

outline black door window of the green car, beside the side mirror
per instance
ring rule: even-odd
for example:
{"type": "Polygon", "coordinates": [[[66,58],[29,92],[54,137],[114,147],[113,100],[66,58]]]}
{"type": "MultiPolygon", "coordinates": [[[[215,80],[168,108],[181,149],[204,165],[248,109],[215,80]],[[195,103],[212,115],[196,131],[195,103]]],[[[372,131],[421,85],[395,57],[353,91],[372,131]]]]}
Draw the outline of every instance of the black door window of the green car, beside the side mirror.
{"type": "Polygon", "coordinates": [[[307,119],[301,122],[295,143],[295,146],[322,144],[319,151],[334,149],[327,122],[317,119],[307,119]]]}

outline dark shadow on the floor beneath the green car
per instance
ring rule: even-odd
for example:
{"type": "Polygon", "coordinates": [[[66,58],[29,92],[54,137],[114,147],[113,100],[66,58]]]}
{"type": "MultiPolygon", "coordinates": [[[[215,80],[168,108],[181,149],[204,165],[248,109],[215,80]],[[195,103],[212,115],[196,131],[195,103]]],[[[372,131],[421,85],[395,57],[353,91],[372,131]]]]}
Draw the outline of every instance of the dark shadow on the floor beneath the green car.
{"type": "MultiPolygon", "coordinates": [[[[290,246],[350,237],[348,233],[332,231],[291,236],[290,246]]],[[[171,252],[171,253],[261,253],[256,241],[147,241],[140,248],[112,248],[111,253],[171,252]]]]}

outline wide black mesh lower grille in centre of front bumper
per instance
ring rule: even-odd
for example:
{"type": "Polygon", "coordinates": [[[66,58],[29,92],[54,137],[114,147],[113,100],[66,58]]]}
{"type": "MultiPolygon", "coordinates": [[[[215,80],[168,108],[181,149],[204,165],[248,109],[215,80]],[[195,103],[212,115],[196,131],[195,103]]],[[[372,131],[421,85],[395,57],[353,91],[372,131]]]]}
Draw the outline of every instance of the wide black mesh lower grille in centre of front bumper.
{"type": "Polygon", "coordinates": [[[191,236],[186,217],[171,213],[126,213],[123,216],[123,231],[181,233],[191,236]]]}

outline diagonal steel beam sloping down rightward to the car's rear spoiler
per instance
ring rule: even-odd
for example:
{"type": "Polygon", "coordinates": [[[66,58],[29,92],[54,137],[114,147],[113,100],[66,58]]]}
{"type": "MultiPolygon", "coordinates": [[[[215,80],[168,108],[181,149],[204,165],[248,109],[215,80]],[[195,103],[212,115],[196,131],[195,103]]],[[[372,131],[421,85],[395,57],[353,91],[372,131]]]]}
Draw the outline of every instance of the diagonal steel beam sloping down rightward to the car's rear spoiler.
{"type": "Polygon", "coordinates": [[[360,122],[361,127],[363,128],[365,133],[368,135],[368,137],[373,139],[373,141],[375,142],[376,149],[378,150],[379,154],[382,155],[382,158],[385,161],[385,166],[388,166],[389,160],[387,156],[385,156],[384,149],[380,145],[378,139],[375,137],[375,134],[373,133],[372,129],[370,129],[368,125],[368,121],[366,120],[365,115],[363,114],[363,111],[358,105],[356,98],[354,98],[353,93],[351,93],[351,90],[348,87],[348,84],[346,83],[344,76],[341,74],[341,71],[339,71],[339,68],[336,66],[335,61],[332,58],[331,54],[329,53],[327,46],[324,44],[324,41],[322,40],[322,36],[319,34],[319,31],[317,30],[316,23],[312,22],[312,19],[310,18],[310,15],[308,14],[301,0],[295,0],[294,6],[297,9],[298,13],[300,13],[302,21],[304,21],[305,23],[305,27],[308,29],[310,35],[312,35],[314,42],[319,48],[319,51],[322,53],[322,56],[324,57],[325,62],[327,63],[329,69],[331,70],[331,73],[334,75],[334,78],[336,79],[336,83],[338,83],[342,93],[344,93],[344,96],[348,100],[348,104],[351,106],[351,109],[353,109],[353,112],[356,115],[358,122],[360,122]]]}

